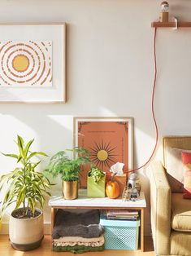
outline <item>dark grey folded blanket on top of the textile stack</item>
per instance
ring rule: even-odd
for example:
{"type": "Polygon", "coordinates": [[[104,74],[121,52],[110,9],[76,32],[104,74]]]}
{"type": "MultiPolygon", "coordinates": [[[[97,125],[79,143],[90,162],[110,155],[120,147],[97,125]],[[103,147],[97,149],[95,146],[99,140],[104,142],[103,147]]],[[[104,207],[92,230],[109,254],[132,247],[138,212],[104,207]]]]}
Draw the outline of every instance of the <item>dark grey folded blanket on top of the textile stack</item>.
{"type": "Polygon", "coordinates": [[[55,218],[52,238],[59,239],[63,236],[92,238],[101,236],[103,231],[102,225],[99,224],[98,210],[76,214],[59,209],[55,218]]]}

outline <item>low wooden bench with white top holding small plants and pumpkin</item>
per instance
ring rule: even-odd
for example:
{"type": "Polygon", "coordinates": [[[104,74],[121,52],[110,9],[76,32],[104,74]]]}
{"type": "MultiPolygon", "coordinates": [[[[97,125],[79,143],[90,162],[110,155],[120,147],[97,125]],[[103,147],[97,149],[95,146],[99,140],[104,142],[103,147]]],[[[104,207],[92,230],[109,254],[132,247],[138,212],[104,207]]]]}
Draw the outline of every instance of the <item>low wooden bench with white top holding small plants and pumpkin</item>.
{"type": "Polygon", "coordinates": [[[140,210],[141,218],[141,251],[144,251],[144,209],[146,207],[144,192],[141,192],[137,201],[122,201],[119,199],[88,198],[87,191],[79,190],[78,198],[75,200],[65,200],[60,194],[52,196],[49,201],[51,207],[51,231],[54,227],[55,214],[58,209],[105,209],[105,210],[140,210]]]}

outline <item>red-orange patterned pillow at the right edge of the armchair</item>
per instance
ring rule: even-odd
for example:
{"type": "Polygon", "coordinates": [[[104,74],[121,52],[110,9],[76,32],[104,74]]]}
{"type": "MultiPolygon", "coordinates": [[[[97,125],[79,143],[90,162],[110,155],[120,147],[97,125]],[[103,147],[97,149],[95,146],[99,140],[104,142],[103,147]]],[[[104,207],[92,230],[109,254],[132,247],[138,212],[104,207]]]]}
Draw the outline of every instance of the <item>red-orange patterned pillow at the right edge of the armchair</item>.
{"type": "Polygon", "coordinates": [[[191,199],[191,153],[182,152],[184,165],[184,194],[185,199],[191,199]]]}

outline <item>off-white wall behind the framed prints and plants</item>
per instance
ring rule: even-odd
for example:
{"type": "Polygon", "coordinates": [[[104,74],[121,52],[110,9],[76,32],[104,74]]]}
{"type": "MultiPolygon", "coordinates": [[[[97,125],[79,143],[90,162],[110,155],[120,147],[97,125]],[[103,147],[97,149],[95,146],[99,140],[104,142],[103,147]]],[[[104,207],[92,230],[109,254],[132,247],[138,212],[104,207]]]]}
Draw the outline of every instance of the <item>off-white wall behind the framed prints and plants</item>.
{"type": "MultiPolygon", "coordinates": [[[[154,148],[150,111],[154,78],[150,23],[158,0],[1,0],[0,22],[67,22],[67,104],[1,104],[0,151],[14,152],[16,135],[35,138],[49,155],[72,147],[72,117],[134,117],[135,167],[154,148]]],[[[189,20],[191,2],[170,1],[171,14],[189,20]]],[[[158,29],[155,112],[159,137],[190,135],[191,29],[158,29]]],[[[1,93],[1,91],[0,91],[1,93]]],[[[0,156],[0,172],[13,161],[0,156]]],[[[44,163],[46,166],[46,162],[44,163]]],[[[141,170],[149,204],[149,183],[141,170]]],[[[46,223],[50,210],[46,207],[46,223]]],[[[149,209],[145,217],[150,233],[149,209]]]]}

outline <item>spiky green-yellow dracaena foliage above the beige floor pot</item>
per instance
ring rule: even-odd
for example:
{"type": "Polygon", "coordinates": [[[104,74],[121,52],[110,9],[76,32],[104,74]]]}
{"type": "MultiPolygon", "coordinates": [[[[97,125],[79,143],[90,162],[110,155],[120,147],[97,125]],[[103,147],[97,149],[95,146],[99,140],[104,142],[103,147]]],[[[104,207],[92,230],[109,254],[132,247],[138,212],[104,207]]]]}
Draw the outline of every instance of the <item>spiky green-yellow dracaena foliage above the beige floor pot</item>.
{"type": "Polygon", "coordinates": [[[50,196],[47,190],[50,188],[50,180],[36,167],[41,161],[32,161],[33,157],[44,156],[45,152],[31,152],[29,149],[34,139],[24,143],[24,139],[17,135],[18,154],[5,154],[6,157],[13,157],[17,160],[17,167],[8,174],[2,175],[0,179],[0,192],[4,185],[7,184],[7,191],[2,201],[1,216],[9,205],[15,202],[15,209],[23,204],[23,216],[28,216],[29,210],[34,214],[35,208],[39,205],[41,208],[45,202],[45,195],[50,196]]]}

